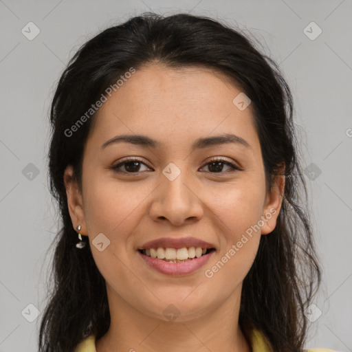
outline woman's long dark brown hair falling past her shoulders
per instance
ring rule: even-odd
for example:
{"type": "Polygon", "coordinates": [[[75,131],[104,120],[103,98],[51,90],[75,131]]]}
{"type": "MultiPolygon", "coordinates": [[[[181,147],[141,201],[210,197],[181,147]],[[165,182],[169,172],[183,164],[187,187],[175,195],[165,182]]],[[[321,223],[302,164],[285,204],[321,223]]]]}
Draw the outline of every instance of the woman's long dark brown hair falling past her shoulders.
{"type": "Polygon", "coordinates": [[[54,93],[49,176],[62,227],[52,244],[52,286],[41,320],[39,351],[73,351],[91,333],[98,340],[109,329],[105,281],[89,245],[76,248],[63,181],[65,168],[72,165],[82,190],[83,147],[96,115],[79,126],[74,136],[67,129],[124,72],[151,62],[217,69],[252,100],[267,189],[272,189],[284,163],[285,190],[276,228],[261,236],[243,281],[239,325],[246,338],[254,328],[262,331],[274,351],[303,351],[308,327],[304,311],[320,287],[321,268],[305,210],[307,188],[298,157],[291,91],[278,65],[240,30],[208,17],[163,17],[151,12],[87,41],[69,61],[54,93]]]}

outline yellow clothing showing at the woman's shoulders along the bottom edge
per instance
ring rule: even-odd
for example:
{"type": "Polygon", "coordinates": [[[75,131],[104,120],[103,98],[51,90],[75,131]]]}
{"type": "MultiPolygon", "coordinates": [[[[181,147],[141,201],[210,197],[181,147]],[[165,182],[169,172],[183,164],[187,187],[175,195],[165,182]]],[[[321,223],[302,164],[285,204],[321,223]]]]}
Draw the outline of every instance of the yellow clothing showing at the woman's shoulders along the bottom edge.
{"type": "MultiPolygon", "coordinates": [[[[254,330],[252,334],[253,352],[271,352],[270,344],[268,344],[265,336],[259,331],[254,330]]],[[[335,352],[331,349],[309,349],[306,352],[335,352]]],[[[74,352],[96,352],[96,339],[94,335],[85,338],[74,350],[74,352]]]]}

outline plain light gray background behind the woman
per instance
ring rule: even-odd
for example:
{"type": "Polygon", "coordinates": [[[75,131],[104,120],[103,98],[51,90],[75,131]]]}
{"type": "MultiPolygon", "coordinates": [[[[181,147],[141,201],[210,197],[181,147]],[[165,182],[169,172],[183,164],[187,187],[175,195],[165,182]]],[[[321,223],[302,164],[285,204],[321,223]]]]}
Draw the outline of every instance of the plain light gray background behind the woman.
{"type": "MultiPolygon", "coordinates": [[[[47,189],[47,115],[56,80],[87,39],[149,10],[238,25],[280,63],[295,98],[324,267],[318,308],[307,313],[316,320],[306,348],[352,351],[351,0],[0,0],[0,351],[36,351],[41,317],[29,322],[35,309],[28,305],[44,309],[51,258],[45,253],[58,230],[47,189]],[[30,21],[41,31],[32,41],[21,32],[30,21]],[[322,30],[314,40],[304,32],[312,21],[322,30]]],[[[318,28],[306,31],[312,36],[318,28]]]]}

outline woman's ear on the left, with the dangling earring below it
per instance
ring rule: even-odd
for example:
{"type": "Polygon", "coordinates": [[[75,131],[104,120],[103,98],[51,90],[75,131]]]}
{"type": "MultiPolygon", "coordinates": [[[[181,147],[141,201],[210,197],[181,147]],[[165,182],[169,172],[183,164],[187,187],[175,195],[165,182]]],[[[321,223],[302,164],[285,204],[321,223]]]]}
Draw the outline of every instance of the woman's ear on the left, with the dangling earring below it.
{"type": "Polygon", "coordinates": [[[67,166],[63,176],[67,195],[67,205],[69,207],[69,216],[72,220],[74,230],[80,225],[80,234],[87,236],[87,226],[83,212],[83,198],[78,188],[77,181],[74,179],[74,170],[72,165],[67,166]]]}

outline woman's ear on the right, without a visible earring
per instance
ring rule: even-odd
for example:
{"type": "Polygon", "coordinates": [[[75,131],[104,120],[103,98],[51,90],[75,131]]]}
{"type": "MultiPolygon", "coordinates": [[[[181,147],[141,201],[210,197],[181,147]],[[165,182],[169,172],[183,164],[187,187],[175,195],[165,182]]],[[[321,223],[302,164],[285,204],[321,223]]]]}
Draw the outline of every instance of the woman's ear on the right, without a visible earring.
{"type": "Polygon", "coordinates": [[[264,225],[261,227],[261,234],[270,234],[276,226],[276,220],[283,203],[285,190],[285,166],[280,169],[280,175],[276,176],[272,190],[267,195],[263,209],[264,225]]]}

